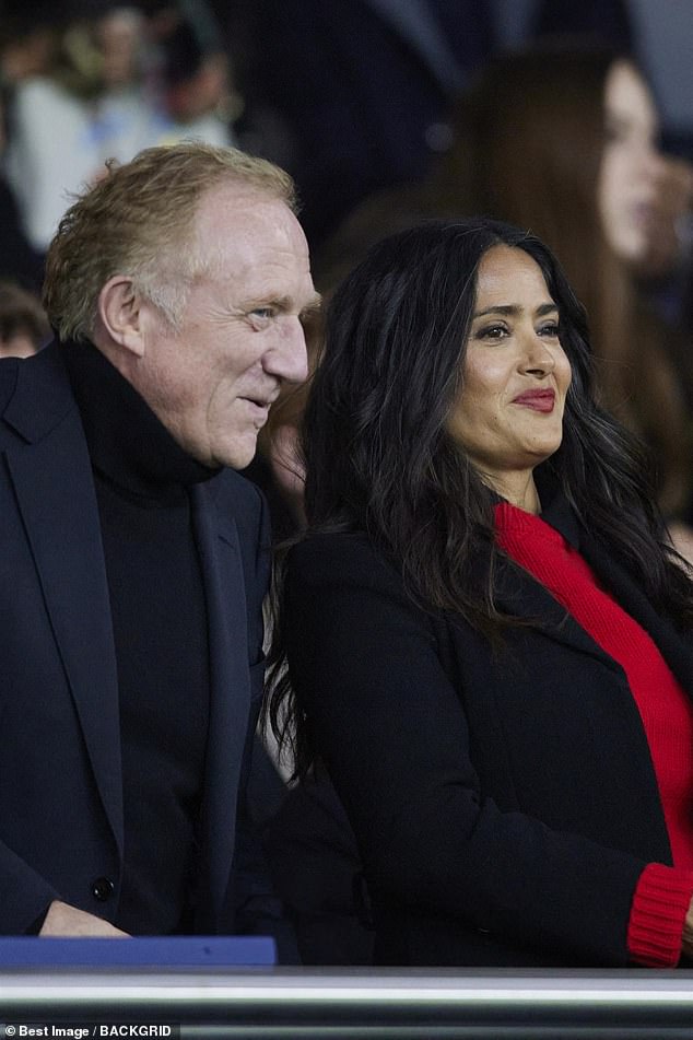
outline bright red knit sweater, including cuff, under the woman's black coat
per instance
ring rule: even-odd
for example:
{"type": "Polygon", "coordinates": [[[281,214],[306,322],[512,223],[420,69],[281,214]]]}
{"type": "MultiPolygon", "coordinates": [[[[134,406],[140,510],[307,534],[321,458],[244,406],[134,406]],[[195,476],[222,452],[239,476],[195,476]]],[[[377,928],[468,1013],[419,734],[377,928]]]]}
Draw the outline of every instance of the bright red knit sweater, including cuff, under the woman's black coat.
{"type": "Polygon", "coordinates": [[[496,506],[500,546],[561,603],[625,671],[659,786],[673,867],[650,863],[631,908],[633,960],[674,967],[693,898],[693,704],[649,634],[627,615],[565,538],[540,516],[496,506]]]}

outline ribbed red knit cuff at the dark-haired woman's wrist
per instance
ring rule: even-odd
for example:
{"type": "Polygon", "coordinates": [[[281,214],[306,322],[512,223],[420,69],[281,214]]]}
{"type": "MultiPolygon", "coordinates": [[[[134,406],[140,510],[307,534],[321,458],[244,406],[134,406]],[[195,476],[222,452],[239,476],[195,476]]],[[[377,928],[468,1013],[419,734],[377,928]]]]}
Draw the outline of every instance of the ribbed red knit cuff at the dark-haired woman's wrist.
{"type": "Polygon", "coordinates": [[[649,863],[635,888],[629,921],[631,958],[648,968],[676,968],[685,915],[693,899],[693,872],[649,863]]]}

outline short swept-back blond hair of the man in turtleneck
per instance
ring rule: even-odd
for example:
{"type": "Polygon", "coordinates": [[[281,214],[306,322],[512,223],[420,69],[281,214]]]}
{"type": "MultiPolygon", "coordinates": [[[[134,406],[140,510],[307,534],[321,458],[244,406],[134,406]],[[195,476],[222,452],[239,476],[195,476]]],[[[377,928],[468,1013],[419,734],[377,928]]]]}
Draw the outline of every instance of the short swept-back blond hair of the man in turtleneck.
{"type": "Polygon", "coordinates": [[[104,178],[67,211],[48,249],[43,299],[60,339],[93,335],[99,292],[115,274],[131,277],[175,328],[208,259],[195,237],[200,200],[234,184],[296,211],[289,174],[237,149],[183,142],[108,163],[104,178]]]}

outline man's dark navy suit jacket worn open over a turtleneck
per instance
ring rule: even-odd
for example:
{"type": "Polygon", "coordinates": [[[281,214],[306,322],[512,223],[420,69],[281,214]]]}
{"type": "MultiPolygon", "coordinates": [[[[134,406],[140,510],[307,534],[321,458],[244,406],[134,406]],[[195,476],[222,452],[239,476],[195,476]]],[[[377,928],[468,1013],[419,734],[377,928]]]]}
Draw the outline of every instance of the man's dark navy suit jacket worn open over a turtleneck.
{"type": "MultiPolygon", "coordinates": [[[[55,898],[113,921],[122,781],[98,512],[59,347],[0,362],[0,933],[13,934],[55,898]]],[[[195,930],[233,932],[239,903],[266,895],[232,861],[245,848],[269,533],[260,493],[231,470],[196,487],[192,511],[211,681],[195,930]]]]}

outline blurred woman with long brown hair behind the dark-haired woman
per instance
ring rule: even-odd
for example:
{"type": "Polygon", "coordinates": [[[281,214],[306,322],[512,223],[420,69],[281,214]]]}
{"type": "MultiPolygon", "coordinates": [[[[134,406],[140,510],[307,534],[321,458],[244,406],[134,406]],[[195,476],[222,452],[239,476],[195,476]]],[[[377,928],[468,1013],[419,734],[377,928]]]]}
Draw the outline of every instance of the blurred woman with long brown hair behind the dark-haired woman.
{"type": "Polygon", "coordinates": [[[665,323],[643,282],[676,270],[691,172],[659,151],[658,132],[631,59],[551,46],[502,55],[460,101],[456,142],[434,176],[354,214],[316,278],[329,289],[345,253],[360,258],[412,215],[488,213],[531,227],[587,307],[602,404],[653,448],[667,515],[693,519],[689,337],[665,323]]]}

